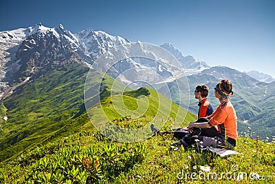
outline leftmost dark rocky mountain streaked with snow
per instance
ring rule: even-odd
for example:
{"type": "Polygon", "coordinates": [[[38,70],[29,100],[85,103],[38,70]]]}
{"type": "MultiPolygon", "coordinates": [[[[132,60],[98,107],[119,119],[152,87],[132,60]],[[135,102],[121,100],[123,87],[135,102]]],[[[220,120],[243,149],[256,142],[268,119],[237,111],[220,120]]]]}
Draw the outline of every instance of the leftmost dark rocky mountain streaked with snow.
{"type": "Polygon", "coordinates": [[[2,89],[32,74],[56,68],[71,61],[87,62],[78,39],[59,25],[47,28],[41,23],[29,28],[0,32],[2,89]]]}

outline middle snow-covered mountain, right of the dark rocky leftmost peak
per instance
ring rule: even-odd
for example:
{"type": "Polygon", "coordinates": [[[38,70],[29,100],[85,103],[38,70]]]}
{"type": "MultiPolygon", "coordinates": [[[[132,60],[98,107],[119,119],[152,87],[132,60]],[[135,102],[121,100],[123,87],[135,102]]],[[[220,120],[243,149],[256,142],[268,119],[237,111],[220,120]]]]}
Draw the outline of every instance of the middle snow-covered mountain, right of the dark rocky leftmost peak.
{"type": "MultiPolygon", "coordinates": [[[[94,62],[98,62],[96,59],[102,56],[102,54],[108,54],[109,58],[115,59],[115,54],[118,53],[112,49],[120,45],[120,52],[122,52],[120,54],[122,54],[125,59],[122,59],[122,61],[114,61],[115,63],[111,64],[113,67],[109,69],[107,74],[122,83],[128,84],[131,83],[130,81],[137,80],[154,83],[159,82],[155,81],[156,79],[166,79],[171,76],[175,76],[176,73],[182,76],[182,72],[178,72],[180,65],[173,67],[174,70],[170,71],[169,68],[171,68],[171,63],[164,61],[163,59],[160,61],[159,58],[154,56],[153,52],[147,52],[144,50],[144,45],[140,42],[135,45],[131,45],[131,42],[128,39],[123,39],[118,36],[113,37],[106,32],[94,31],[93,29],[83,30],[82,32],[76,34],[76,37],[78,38],[80,47],[83,48],[86,54],[89,54],[94,62]],[[140,50],[143,57],[129,57],[133,55],[133,53],[131,53],[131,50],[133,49],[140,50]],[[159,63],[165,64],[159,65],[159,63]]],[[[144,85],[146,84],[140,83],[139,85],[135,84],[131,87],[140,88],[144,85]]]]}

